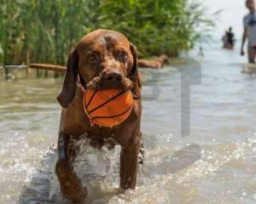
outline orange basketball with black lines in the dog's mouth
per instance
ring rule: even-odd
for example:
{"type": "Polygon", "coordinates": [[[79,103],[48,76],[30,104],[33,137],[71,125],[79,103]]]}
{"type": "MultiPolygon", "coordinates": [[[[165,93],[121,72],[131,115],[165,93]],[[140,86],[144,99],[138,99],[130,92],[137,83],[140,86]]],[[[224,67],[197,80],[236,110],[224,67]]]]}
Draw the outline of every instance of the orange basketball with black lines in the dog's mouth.
{"type": "Polygon", "coordinates": [[[84,94],[84,111],[92,124],[113,127],[124,122],[131,114],[131,90],[87,89],[84,94]]]}

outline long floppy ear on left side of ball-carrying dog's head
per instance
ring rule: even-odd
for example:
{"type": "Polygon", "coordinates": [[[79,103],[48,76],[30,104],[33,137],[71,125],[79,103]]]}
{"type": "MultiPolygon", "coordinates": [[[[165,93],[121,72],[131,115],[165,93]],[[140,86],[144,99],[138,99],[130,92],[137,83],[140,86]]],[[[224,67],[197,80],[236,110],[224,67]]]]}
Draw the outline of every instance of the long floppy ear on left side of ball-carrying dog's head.
{"type": "Polygon", "coordinates": [[[76,93],[78,61],[79,56],[75,48],[68,56],[66,76],[63,82],[61,94],[59,94],[57,97],[58,102],[63,108],[67,108],[67,106],[72,102],[76,93]]]}

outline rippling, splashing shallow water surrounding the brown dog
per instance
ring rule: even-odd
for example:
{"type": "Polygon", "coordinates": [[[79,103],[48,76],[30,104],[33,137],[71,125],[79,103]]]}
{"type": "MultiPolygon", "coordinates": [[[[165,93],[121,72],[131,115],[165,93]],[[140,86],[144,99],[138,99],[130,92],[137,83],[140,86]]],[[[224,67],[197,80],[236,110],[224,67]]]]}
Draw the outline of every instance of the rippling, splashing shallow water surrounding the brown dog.
{"type": "MultiPolygon", "coordinates": [[[[117,190],[119,148],[83,144],[75,168],[90,203],[255,203],[256,77],[241,73],[238,50],[219,47],[207,46],[199,63],[143,71],[146,155],[137,189],[117,190]],[[182,137],[180,70],[195,65],[201,82],[191,87],[190,135],[182,137]]],[[[54,174],[60,88],[61,79],[0,81],[1,204],[66,203],[54,174]]]]}

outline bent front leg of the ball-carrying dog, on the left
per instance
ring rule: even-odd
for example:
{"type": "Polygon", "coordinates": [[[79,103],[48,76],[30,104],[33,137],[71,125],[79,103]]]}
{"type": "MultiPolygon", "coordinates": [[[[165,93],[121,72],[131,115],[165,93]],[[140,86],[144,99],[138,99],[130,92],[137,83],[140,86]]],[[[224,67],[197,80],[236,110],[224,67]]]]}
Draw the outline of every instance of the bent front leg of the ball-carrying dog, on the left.
{"type": "Polygon", "coordinates": [[[87,192],[73,171],[71,156],[75,156],[75,150],[70,145],[70,135],[59,133],[58,161],[55,166],[55,173],[61,185],[61,193],[69,203],[85,203],[87,192]]]}

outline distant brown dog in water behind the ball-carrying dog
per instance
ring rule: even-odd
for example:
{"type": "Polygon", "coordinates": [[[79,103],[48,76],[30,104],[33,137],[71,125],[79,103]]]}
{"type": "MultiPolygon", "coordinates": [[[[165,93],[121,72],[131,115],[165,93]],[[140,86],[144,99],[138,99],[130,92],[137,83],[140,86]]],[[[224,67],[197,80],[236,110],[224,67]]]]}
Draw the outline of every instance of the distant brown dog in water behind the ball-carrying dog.
{"type": "Polygon", "coordinates": [[[138,59],[137,65],[143,68],[154,68],[159,69],[164,65],[168,65],[170,63],[170,59],[166,56],[166,54],[161,54],[158,59],[138,59]]]}

